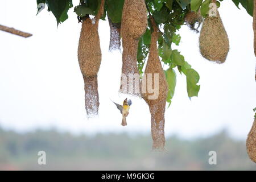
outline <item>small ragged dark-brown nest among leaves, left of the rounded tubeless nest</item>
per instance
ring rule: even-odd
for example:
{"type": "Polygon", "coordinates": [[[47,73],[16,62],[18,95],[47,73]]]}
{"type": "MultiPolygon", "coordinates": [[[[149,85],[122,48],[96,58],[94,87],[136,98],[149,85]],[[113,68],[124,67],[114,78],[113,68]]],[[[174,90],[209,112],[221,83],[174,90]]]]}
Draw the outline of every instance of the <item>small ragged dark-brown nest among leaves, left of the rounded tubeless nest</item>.
{"type": "Polygon", "coordinates": [[[188,24],[188,27],[199,33],[199,27],[201,26],[201,23],[203,22],[204,18],[200,14],[200,10],[198,13],[195,13],[194,11],[189,11],[187,14],[185,14],[185,23],[188,24]]]}

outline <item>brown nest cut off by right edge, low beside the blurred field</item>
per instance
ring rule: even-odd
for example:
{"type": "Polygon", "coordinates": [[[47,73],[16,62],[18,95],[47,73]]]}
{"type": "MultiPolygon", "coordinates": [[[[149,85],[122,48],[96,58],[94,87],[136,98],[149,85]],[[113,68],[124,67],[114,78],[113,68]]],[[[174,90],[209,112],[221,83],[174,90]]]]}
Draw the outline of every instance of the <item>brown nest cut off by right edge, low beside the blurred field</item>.
{"type": "Polygon", "coordinates": [[[246,139],[246,148],[250,159],[256,163],[256,118],[246,139]]]}

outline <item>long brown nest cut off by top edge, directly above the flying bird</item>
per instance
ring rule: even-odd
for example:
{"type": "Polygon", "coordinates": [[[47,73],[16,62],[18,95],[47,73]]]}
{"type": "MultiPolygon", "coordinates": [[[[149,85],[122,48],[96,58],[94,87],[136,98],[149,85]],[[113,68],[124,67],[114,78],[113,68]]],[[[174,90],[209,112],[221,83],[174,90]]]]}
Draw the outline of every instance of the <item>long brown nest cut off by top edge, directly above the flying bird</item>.
{"type": "MultiPolygon", "coordinates": [[[[147,9],[144,0],[125,0],[123,5],[121,36],[122,36],[122,74],[126,76],[127,81],[124,85],[121,78],[121,92],[138,95],[136,79],[129,81],[130,75],[138,75],[137,51],[139,38],[144,34],[147,28],[147,9]],[[129,89],[133,88],[133,89],[129,89]]],[[[139,82],[138,82],[139,84],[139,82]]]]}

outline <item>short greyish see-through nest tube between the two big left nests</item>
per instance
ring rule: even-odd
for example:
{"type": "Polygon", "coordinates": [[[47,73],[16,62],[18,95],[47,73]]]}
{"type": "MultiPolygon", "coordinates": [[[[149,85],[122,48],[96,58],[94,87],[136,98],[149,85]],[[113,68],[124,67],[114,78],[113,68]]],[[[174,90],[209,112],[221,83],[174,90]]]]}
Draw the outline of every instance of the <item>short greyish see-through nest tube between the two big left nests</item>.
{"type": "Polygon", "coordinates": [[[111,52],[115,50],[120,50],[121,23],[113,23],[109,17],[108,19],[109,19],[109,27],[110,27],[109,51],[111,52]]]}

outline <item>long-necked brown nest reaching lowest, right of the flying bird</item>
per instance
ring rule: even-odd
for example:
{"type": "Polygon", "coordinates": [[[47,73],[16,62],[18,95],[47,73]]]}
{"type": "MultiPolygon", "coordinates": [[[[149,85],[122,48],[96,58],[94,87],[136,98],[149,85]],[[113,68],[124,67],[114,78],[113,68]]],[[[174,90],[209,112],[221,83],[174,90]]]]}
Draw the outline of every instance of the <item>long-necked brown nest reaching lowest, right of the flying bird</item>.
{"type": "MultiPolygon", "coordinates": [[[[160,59],[158,56],[157,40],[158,40],[158,27],[154,19],[150,16],[153,32],[151,33],[150,52],[147,60],[146,69],[144,72],[143,80],[146,85],[142,85],[142,98],[147,102],[151,113],[151,135],[153,139],[153,149],[164,150],[164,112],[166,108],[166,98],[168,93],[168,84],[164,74],[160,59]],[[156,73],[156,74],[155,74],[156,73]],[[151,81],[148,81],[148,76],[152,75],[151,81]],[[155,80],[155,76],[158,79],[155,80]],[[146,90],[143,88],[147,88],[146,90]],[[154,88],[158,91],[158,97],[153,98],[152,93],[148,93],[148,88],[154,88]],[[151,98],[150,98],[151,97],[151,98]]],[[[143,82],[143,81],[142,81],[143,82]]]]}

